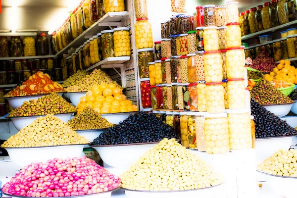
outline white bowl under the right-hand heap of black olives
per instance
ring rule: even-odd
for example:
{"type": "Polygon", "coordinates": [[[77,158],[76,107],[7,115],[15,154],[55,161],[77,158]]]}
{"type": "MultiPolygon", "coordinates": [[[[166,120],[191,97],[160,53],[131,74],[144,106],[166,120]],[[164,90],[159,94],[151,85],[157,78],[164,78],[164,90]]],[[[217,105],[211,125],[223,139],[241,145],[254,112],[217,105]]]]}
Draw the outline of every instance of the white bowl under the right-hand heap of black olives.
{"type": "Polygon", "coordinates": [[[294,136],[261,138],[255,140],[256,162],[257,164],[270,157],[276,150],[283,148],[289,150],[294,136]]]}

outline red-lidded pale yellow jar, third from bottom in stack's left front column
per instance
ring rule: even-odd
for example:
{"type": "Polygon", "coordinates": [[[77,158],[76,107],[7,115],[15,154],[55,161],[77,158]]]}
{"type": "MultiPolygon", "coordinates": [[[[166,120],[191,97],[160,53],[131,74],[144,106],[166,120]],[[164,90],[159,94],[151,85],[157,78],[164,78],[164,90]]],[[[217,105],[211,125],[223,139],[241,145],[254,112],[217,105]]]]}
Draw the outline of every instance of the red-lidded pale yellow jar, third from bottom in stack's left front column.
{"type": "Polygon", "coordinates": [[[222,56],[220,51],[204,52],[204,74],[207,83],[222,82],[222,56]]]}

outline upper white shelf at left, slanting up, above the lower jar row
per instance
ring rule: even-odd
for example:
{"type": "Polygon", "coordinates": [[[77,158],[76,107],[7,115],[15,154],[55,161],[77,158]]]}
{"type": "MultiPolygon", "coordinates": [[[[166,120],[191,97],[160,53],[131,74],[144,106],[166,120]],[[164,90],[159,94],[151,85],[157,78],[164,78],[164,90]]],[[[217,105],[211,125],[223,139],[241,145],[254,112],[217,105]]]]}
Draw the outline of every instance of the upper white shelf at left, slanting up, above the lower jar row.
{"type": "Polygon", "coordinates": [[[97,22],[95,22],[91,27],[85,30],[81,35],[79,35],[76,39],[74,39],[68,46],[64,49],[60,50],[55,55],[60,55],[63,53],[67,53],[68,49],[72,47],[79,47],[84,44],[89,38],[97,35],[106,27],[114,26],[112,23],[108,24],[106,22],[119,22],[124,19],[126,16],[129,15],[129,12],[122,11],[122,12],[107,12],[104,16],[102,16],[97,22]]]}

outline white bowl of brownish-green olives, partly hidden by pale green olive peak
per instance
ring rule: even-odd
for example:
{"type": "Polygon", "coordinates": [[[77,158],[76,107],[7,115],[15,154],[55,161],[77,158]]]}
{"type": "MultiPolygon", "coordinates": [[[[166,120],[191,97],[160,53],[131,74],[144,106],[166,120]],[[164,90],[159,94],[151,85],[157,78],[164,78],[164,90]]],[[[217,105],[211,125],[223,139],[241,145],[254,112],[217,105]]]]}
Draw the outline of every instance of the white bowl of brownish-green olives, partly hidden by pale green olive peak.
{"type": "MultiPolygon", "coordinates": [[[[67,123],[69,120],[71,120],[72,114],[73,114],[73,112],[72,113],[60,113],[60,114],[54,114],[54,116],[59,118],[63,122],[67,123]]],[[[34,120],[36,120],[40,116],[45,117],[46,115],[34,115],[34,116],[22,116],[22,117],[8,117],[8,116],[6,116],[6,117],[11,119],[14,127],[17,130],[21,130],[25,126],[30,125],[34,120]]]]}

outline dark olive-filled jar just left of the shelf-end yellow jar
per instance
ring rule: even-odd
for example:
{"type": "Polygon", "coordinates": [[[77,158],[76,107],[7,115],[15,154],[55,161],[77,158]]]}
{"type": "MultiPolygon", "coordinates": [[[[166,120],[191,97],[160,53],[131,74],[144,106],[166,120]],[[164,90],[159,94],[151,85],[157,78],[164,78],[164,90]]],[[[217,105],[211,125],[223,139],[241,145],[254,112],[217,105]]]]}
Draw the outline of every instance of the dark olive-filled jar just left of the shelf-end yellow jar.
{"type": "Polygon", "coordinates": [[[114,57],[113,30],[101,31],[103,59],[114,57]]]}

